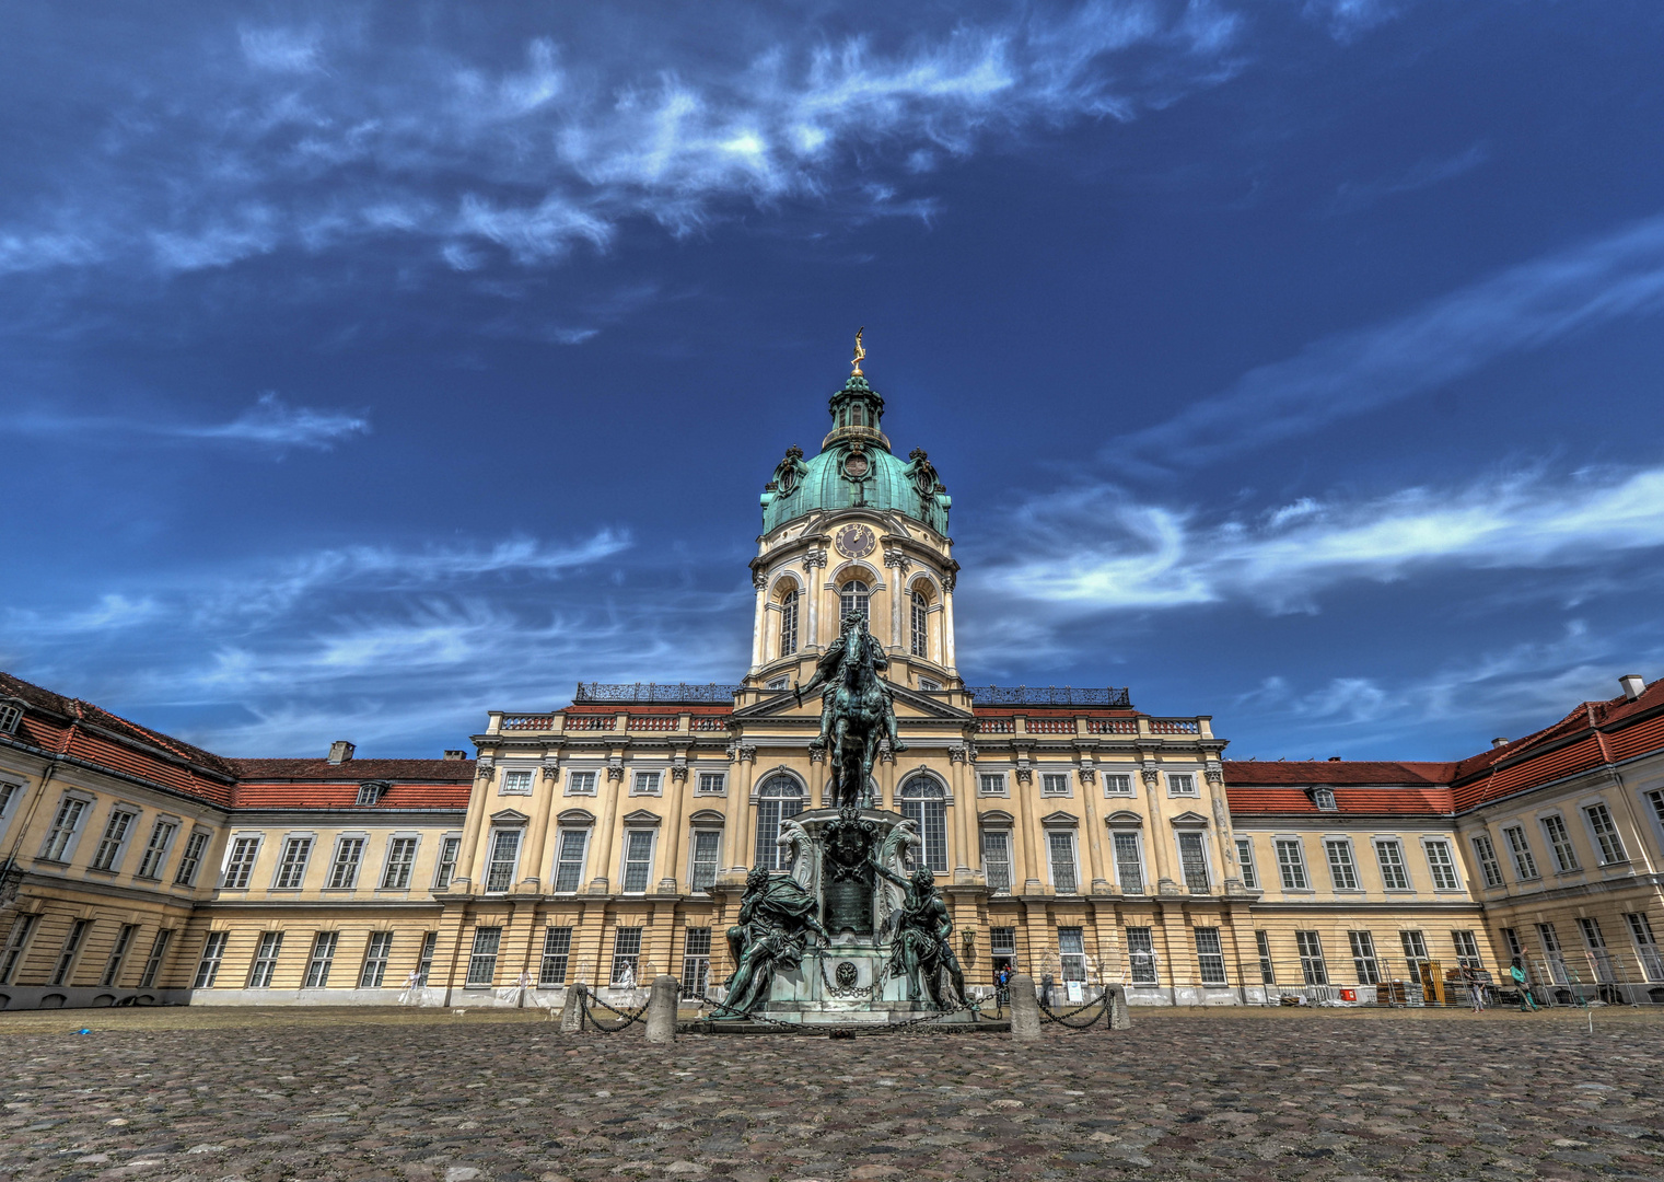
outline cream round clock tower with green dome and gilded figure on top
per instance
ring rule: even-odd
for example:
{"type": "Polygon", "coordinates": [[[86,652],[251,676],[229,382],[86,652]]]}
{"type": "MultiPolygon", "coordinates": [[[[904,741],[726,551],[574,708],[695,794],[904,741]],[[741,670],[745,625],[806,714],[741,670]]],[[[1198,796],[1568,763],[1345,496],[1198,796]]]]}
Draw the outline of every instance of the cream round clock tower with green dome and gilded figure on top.
{"type": "Polygon", "coordinates": [[[762,491],[754,689],[807,681],[814,658],[859,611],[887,649],[889,679],[960,689],[953,654],[952,498],[922,448],[904,463],[884,433],[884,398],[857,358],[830,398],[832,430],[809,459],[787,448],[762,491]],[[807,664],[805,664],[807,663],[807,664]]]}

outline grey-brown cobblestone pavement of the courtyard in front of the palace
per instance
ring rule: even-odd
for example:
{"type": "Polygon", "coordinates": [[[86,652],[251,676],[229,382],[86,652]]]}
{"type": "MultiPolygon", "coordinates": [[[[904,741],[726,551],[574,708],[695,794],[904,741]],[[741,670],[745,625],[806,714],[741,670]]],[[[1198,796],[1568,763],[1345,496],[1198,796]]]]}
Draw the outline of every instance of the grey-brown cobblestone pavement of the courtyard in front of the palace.
{"type": "Polygon", "coordinates": [[[649,1047],[514,1012],[5,1014],[0,1182],[1657,1180],[1661,1017],[1138,1009],[1027,1045],[649,1047]]]}

